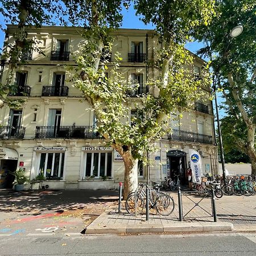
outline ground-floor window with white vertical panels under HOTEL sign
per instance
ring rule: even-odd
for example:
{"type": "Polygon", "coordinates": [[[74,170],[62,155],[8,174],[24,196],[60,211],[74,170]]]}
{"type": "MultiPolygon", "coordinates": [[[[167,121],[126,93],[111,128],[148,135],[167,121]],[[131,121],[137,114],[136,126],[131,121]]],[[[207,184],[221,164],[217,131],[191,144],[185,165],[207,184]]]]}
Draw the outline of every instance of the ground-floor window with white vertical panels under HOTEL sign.
{"type": "Polygon", "coordinates": [[[86,152],[84,177],[112,176],[112,152],[86,152]]]}

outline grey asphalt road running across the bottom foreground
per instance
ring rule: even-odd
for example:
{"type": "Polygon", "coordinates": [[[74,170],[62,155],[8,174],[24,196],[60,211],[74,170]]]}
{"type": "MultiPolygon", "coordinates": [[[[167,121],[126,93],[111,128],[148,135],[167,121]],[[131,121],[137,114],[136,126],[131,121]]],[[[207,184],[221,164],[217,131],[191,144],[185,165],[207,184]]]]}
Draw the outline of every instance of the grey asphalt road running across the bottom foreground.
{"type": "Polygon", "coordinates": [[[256,233],[0,237],[0,255],[255,255],[256,233]]]}

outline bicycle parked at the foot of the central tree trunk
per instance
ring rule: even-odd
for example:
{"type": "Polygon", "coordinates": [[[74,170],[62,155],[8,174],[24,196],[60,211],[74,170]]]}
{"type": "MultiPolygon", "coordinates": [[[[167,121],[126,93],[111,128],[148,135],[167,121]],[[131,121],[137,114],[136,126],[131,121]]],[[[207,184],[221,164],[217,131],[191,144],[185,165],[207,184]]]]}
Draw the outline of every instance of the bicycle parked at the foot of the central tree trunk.
{"type": "MultiPolygon", "coordinates": [[[[156,192],[148,187],[148,203],[150,209],[155,209],[160,215],[168,216],[174,211],[174,199],[164,192],[156,192]]],[[[146,184],[139,184],[135,192],[130,193],[125,202],[128,213],[140,214],[146,207],[146,184]]]]}

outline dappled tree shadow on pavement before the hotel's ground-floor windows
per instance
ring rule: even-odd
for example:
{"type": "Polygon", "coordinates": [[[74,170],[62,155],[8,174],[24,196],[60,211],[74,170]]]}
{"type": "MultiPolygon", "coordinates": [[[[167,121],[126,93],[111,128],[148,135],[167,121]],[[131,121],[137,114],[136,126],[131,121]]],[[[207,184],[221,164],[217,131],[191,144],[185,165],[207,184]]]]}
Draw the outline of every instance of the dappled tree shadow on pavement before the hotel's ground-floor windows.
{"type": "Polygon", "coordinates": [[[41,214],[47,210],[56,213],[87,210],[102,212],[102,209],[117,204],[118,191],[113,190],[76,190],[76,191],[22,191],[0,190],[0,212],[24,212],[41,214]]]}

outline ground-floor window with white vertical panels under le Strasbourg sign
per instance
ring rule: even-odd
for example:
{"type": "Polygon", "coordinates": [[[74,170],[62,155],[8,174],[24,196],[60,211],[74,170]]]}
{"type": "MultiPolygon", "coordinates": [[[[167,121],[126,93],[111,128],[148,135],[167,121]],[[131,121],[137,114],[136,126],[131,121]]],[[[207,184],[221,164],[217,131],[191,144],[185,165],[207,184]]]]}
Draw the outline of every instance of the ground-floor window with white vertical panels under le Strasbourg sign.
{"type": "Polygon", "coordinates": [[[47,179],[63,178],[65,153],[41,153],[39,174],[43,174],[47,179]]]}

